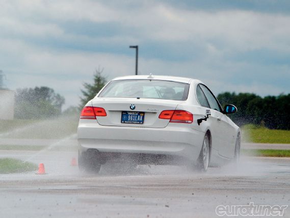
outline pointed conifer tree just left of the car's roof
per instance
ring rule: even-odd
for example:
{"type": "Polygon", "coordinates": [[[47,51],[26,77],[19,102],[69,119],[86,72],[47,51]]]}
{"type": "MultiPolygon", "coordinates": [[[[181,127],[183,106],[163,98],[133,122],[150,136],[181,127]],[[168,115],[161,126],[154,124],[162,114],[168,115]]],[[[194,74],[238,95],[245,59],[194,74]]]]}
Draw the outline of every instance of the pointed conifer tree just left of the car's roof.
{"type": "Polygon", "coordinates": [[[81,107],[83,107],[85,104],[88,103],[88,101],[92,100],[96,94],[106,85],[107,80],[105,77],[102,76],[102,71],[103,68],[100,70],[98,69],[95,70],[94,73],[94,83],[89,84],[89,83],[84,83],[83,86],[85,87],[84,90],[81,90],[84,98],[81,98],[81,107]]]}

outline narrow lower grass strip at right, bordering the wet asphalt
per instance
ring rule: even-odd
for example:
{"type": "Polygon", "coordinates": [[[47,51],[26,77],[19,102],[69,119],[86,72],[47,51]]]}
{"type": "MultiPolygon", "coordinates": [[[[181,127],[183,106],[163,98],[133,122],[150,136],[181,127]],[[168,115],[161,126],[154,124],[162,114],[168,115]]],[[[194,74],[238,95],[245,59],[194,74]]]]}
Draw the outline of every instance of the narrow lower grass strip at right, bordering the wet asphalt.
{"type": "Polygon", "coordinates": [[[290,150],[243,149],[241,153],[246,156],[256,157],[290,157],[290,150]]]}

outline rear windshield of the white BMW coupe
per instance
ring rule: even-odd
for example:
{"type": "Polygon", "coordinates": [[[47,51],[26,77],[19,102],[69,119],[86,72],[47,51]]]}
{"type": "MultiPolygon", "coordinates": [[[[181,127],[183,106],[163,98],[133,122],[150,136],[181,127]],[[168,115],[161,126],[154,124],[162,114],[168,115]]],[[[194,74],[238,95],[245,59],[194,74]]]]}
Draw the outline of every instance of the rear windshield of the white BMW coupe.
{"type": "Polygon", "coordinates": [[[143,98],[185,101],[189,84],[164,80],[115,80],[99,94],[99,98],[143,98]]]}

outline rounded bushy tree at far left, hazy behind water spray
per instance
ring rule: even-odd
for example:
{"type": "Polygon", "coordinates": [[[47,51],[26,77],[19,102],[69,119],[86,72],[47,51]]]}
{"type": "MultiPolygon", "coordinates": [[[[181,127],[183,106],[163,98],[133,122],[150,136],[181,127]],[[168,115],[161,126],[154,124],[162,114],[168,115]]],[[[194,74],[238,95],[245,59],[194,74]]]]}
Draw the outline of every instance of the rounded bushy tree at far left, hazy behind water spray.
{"type": "Polygon", "coordinates": [[[61,114],[65,99],[49,87],[17,89],[15,117],[19,119],[50,118],[61,114]]]}

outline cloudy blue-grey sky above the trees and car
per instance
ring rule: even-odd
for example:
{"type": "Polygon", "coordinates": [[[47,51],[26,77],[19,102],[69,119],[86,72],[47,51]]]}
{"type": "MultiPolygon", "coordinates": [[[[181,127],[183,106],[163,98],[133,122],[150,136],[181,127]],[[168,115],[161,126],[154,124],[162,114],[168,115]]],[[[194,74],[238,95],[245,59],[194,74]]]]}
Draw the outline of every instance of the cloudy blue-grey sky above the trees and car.
{"type": "Polygon", "coordinates": [[[290,92],[290,1],[0,0],[7,88],[48,86],[80,103],[98,66],[200,79],[215,94],[290,92]],[[182,3],[181,3],[182,2],[182,3]]]}

